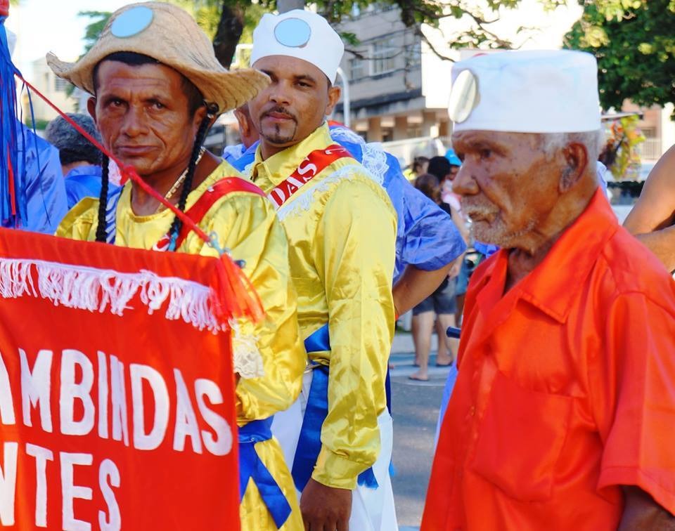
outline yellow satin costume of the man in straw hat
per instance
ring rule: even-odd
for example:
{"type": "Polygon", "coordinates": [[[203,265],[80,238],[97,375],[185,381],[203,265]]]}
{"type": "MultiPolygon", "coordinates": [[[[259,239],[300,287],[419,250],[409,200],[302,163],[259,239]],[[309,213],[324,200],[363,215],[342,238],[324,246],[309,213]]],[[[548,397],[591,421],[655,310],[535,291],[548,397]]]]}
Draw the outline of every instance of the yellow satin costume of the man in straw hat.
{"type": "MultiPolygon", "coordinates": [[[[223,162],[198,188],[188,195],[186,209],[220,178],[239,176],[223,162]]],[[[169,231],[174,214],[163,210],[151,216],[136,216],[131,210],[131,184],[122,191],[117,204],[115,244],[123,247],[151,249],[169,231]]],[[[238,336],[254,336],[262,358],[262,376],[241,377],[236,387],[237,421],[240,426],[255,419],[266,419],[288,408],[297,398],[302,385],[306,359],[299,341],[296,295],[288,271],[288,243],[271,203],[250,192],[231,192],[207,211],[200,228],[219,235],[219,244],[231,249],[233,258],[244,260],[244,272],[255,287],[266,318],[259,325],[239,322],[238,336]]],[[[82,199],[65,216],[56,235],[75,240],[96,240],[98,199],[82,199]]],[[[218,256],[217,251],[191,232],[178,251],[203,256],[218,256]]],[[[244,341],[233,341],[234,350],[244,341]]],[[[237,368],[235,353],[235,366],[237,368]]],[[[240,364],[239,364],[240,365],[240,364]]],[[[244,367],[247,369],[247,367],[244,367]]],[[[248,367],[251,369],[251,367],[248,367]]],[[[255,367],[253,367],[255,370],[255,367]]],[[[240,372],[245,372],[240,370],[240,372]]],[[[293,479],[285,465],[276,439],[258,442],[260,459],[281,486],[293,513],[283,530],[302,530],[302,516],[297,505],[293,479]]],[[[249,483],[240,505],[243,530],[276,530],[274,520],[260,499],[257,487],[249,483]]]]}

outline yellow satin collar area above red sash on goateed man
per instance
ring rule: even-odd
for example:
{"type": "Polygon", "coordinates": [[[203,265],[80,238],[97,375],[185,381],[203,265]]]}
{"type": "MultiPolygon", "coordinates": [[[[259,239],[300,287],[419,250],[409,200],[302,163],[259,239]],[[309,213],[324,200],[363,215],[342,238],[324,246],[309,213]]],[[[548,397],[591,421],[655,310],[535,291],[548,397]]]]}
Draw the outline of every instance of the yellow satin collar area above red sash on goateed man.
{"type": "Polygon", "coordinates": [[[281,183],[297,169],[297,166],[302,162],[304,157],[307,157],[312,151],[321,149],[332,143],[333,140],[330,138],[328,124],[324,122],[307,138],[272,155],[269,159],[262,159],[260,146],[258,146],[255,150],[251,177],[253,181],[259,177],[266,177],[272,184],[278,185],[278,183],[281,183]]]}

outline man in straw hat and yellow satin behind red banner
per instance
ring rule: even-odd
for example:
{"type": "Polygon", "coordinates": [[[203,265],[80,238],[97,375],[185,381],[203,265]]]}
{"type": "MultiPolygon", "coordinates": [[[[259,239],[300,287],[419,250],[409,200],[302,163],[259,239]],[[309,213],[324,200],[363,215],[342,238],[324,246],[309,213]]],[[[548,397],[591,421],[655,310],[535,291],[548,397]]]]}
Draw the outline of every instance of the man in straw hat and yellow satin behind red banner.
{"type": "MultiPolygon", "coordinates": [[[[253,452],[240,450],[240,468],[258,470],[256,462],[241,457],[248,453],[252,461],[262,461],[278,488],[262,495],[259,473],[241,476],[242,529],[302,530],[293,480],[270,432],[271,417],[300,393],[306,366],[288,243],[262,192],[200,149],[215,116],[242,105],[269,80],[254,70],[228,72],[190,15],[156,2],[116,11],[77,63],[63,63],[51,54],[47,61],[58,76],[94,95],[88,108],[105,147],[243,261],[266,317],[257,325],[240,321],[234,327],[240,449],[255,445],[253,452]],[[200,215],[191,214],[199,209],[200,215]]],[[[109,190],[107,168],[104,157],[101,197],[82,199],[57,235],[218,256],[193,232],[182,237],[174,214],[135,183],[109,190]]]]}

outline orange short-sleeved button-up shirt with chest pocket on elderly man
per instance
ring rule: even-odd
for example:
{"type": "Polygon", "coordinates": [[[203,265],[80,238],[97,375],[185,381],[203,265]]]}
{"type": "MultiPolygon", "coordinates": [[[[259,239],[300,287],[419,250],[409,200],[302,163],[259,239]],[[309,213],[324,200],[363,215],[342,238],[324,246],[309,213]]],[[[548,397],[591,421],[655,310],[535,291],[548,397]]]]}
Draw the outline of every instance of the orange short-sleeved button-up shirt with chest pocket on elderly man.
{"type": "Polygon", "coordinates": [[[601,192],[504,293],[471,279],[423,531],[610,530],[621,485],[675,513],[675,282],[601,192]]]}

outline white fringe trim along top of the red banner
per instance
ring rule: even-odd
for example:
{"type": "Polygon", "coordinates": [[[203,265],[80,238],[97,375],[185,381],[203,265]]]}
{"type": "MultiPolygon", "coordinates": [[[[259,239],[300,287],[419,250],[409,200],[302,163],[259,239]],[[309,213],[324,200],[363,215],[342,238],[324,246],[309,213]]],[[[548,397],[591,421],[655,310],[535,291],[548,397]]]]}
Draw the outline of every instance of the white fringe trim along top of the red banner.
{"type": "Polygon", "coordinates": [[[54,306],[90,312],[108,311],[123,315],[133,308],[131,299],[139,295],[148,314],[167,302],[165,318],[183,320],[210,332],[224,331],[210,309],[211,289],[177,277],[160,277],[152,271],[120,273],[112,269],[89,268],[27,258],[0,258],[0,296],[48,299],[54,306]],[[37,288],[34,278],[37,277],[37,288]]]}

